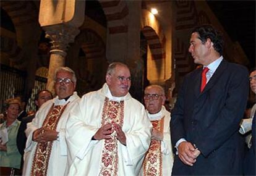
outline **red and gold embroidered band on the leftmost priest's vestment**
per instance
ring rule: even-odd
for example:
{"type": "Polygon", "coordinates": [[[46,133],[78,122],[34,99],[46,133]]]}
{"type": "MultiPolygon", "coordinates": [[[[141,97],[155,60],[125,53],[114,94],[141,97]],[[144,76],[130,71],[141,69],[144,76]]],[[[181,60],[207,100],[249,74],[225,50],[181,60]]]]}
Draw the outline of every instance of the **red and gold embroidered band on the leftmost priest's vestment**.
{"type": "MultiPolygon", "coordinates": [[[[69,103],[67,103],[69,104],[69,103]]],[[[64,106],[56,105],[51,106],[48,114],[46,115],[45,120],[43,121],[42,127],[49,128],[51,130],[56,130],[59,119],[61,118],[62,113],[67,107],[67,104],[64,106]]],[[[33,158],[31,176],[45,176],[47,175],[49,157],[51,156],[51,148],[53,146],[53,141],[47,141],[45,143],[37,143],[36,151],[33,158]]]]}

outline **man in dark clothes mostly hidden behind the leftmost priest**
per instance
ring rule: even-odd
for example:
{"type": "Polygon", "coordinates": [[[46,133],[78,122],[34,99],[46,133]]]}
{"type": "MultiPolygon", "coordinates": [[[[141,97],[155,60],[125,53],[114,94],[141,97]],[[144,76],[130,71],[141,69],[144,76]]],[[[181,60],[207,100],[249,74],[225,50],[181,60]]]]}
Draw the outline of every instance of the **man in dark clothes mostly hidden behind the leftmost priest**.
{"type": "MultiPolygon", "coordinates": [[[[53,94],[50,91],[48,91],[48,90],[39,91],[35,95],[36,110],[38,110],[40,108],[40,106],[43,103],[45,103],[46,101],[48,101],[49,99],[53,99],[53,94]]],[[[22,166],[23,166],[23,154],[24,154],[24,149],[25,149],[26,141],[27,141],[27,137],[25,135],[25,130],[27,128],[27,124],[29,122],[32,122],[34,117],[35,117],[35,114],[30,115],[28,117],[23,117],[21,119],[20,127],[19,127],[19,130],[17,133],[17,140],[16,140],[17,148],[19,149],[19,153],[22,155],[20,168],[22,168],[22,166]]]]}

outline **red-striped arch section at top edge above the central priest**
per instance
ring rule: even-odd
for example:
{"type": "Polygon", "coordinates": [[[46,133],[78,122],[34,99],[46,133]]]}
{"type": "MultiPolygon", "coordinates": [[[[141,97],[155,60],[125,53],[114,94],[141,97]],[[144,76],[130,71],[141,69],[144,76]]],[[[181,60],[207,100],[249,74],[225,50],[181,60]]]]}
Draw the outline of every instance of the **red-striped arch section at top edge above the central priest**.
{"type": "Polygon", "coordinates": [[[106,15],[109,34],[127,33],[127,16],[129,9],[125,1],[122,0],[99,0],[106,15]]]}

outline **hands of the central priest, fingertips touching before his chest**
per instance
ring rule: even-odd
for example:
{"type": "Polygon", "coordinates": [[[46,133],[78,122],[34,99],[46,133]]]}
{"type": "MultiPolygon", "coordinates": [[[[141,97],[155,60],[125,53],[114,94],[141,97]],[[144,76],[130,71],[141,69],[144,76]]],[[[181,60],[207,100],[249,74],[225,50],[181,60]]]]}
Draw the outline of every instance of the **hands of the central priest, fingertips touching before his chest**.
{"type": "Polygon", "coordinates": [[[119,140],[123,145],[126,145],[126,135],[122,131],[121,126],[118,124],[103,125],[98,129],[98,131],[95,133],[93,138],[95,138],[95,140],[103,140],[103,139],[109,140],[111,139],[110,135],[114,132],[116,132],[117,140],[119,140]]]}

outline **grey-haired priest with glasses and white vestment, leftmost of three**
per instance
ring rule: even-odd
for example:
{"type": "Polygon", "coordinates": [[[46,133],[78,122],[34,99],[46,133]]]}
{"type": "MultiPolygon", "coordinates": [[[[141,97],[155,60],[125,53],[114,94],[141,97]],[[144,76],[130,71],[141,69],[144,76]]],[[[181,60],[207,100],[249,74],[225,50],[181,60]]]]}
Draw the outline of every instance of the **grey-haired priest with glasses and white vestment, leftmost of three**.
{"type": "Polygon", "coordinates": [[[74,71],[68,67],[56,70],[56,98],[40,107],[25,130],[27,143],[22,175],[64,175],[67,164],[67,117],[80,99],[74,92],[76,80],[74,71]]]}

